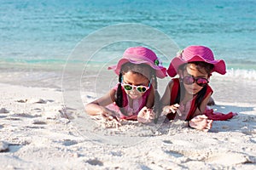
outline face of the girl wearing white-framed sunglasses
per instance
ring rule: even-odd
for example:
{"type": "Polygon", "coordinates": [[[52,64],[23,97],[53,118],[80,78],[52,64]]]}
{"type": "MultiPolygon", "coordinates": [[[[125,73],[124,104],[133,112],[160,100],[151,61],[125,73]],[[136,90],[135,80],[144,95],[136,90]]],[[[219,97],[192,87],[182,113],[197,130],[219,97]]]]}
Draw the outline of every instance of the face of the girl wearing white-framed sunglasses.
{"type": "MultiPolygon", "coordinates": [[[[145,87],[148,87],[149,84],[149,80],[147,77],[144,77],[142,74],[134,73],[132,71],[128,71],[125,74],[123,74],[123,82],[125,84],[130,84],[133,86],[145,87]]],[[[125,93],[128,94],[131,99],[139,99],[144,94],[138,92],[136,88],[132,88],[131,90],[125,90],[125,93]]]]}

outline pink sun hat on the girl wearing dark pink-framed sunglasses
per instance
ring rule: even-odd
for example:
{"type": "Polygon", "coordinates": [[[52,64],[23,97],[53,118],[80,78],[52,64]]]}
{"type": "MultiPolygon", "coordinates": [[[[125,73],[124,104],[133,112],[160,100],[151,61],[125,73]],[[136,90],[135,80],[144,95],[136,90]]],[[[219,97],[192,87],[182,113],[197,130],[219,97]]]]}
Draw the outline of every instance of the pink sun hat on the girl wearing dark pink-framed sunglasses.
{"type": "Polygon", "coordinates": [[[204,46],[189,46],[184,48],[175,58],[172,59],[167,73],[170,77],[177,75],[180,65],[193,61],[203,61],[214,65],[212,72],[218,72],[224,75],[226,73],[226,65],[223,59],[214,59],[214,55],[210,48],[204,46]]]}

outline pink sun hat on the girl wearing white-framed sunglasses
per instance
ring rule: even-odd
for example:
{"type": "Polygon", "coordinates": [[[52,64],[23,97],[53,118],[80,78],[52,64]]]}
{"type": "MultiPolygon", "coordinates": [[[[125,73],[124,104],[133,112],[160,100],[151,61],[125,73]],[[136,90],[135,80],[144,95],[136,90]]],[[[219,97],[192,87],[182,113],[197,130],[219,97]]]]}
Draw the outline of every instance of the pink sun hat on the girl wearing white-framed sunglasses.
{"type": "Polygon", "coordinates": [[[156,77],[164,78],[167,76],[166,67],[161,65],[160,59],[157,58],[156,54],[148,48],[144,47],[131,47],[125,50],[123,57],[119,59],[117,65],[109,66],[108,70],[113,70],[119,75],[121,66],[125,63],[133,64],[146,64],[155,70],[156,77]]]}

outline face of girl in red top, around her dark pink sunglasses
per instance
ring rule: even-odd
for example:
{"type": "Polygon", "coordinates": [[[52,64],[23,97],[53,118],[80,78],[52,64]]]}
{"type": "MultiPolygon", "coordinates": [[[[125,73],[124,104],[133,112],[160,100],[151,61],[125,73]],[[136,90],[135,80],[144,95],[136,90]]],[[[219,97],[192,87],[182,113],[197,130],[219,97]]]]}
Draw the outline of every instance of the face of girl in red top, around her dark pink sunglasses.
{"type": "MultiPolygon", "coordinates": [[[[204,69],[201,69],[201,71],[198,71],[195,64],[188,64],[187,66],[185,66],[183,70],[183,77],[188,77],[188,76],[195,77],[195,79],[199,77],[208,79],[207,71],[204,71],[204,69]]],[[[189,94],[193,94],[193,95],[199,93],[203,88],[199,86],[196,82],[192,84],[183,83],[183,85],[186,91],[189,94]]]]}

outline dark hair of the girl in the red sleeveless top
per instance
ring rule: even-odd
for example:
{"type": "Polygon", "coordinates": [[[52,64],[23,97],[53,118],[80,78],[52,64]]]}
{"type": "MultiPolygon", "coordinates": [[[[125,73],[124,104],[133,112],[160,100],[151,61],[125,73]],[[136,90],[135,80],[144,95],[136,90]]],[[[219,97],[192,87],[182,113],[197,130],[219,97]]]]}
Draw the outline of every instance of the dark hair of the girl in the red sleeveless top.
{"type": "MultiPolygon", "coordinates": [[[[189,62],[187,64],[181,65],[179,68],[184,70],[185,66],[189,64],[194,64],[198,71],[200,71],[203,74],[207,73],[208,77],[211,75],[211,71],[214,67],[214,65],[203,62],[203,61],[194,61],[194,62],[189,62]]],[[[201,111],[200,105],[202,100],[205,98],[206,93],[207,93],[207,86],[203,87],[195,97],[195,108],[198,108],[199,111],[201,111]]],[[[185,88],[183,83],[180,83],[180,88],[179,88],[179,92],[177,93],[176,102],[179,103],[181,100],[183,100],[184,96],[185,96],[185,88]]]]}

